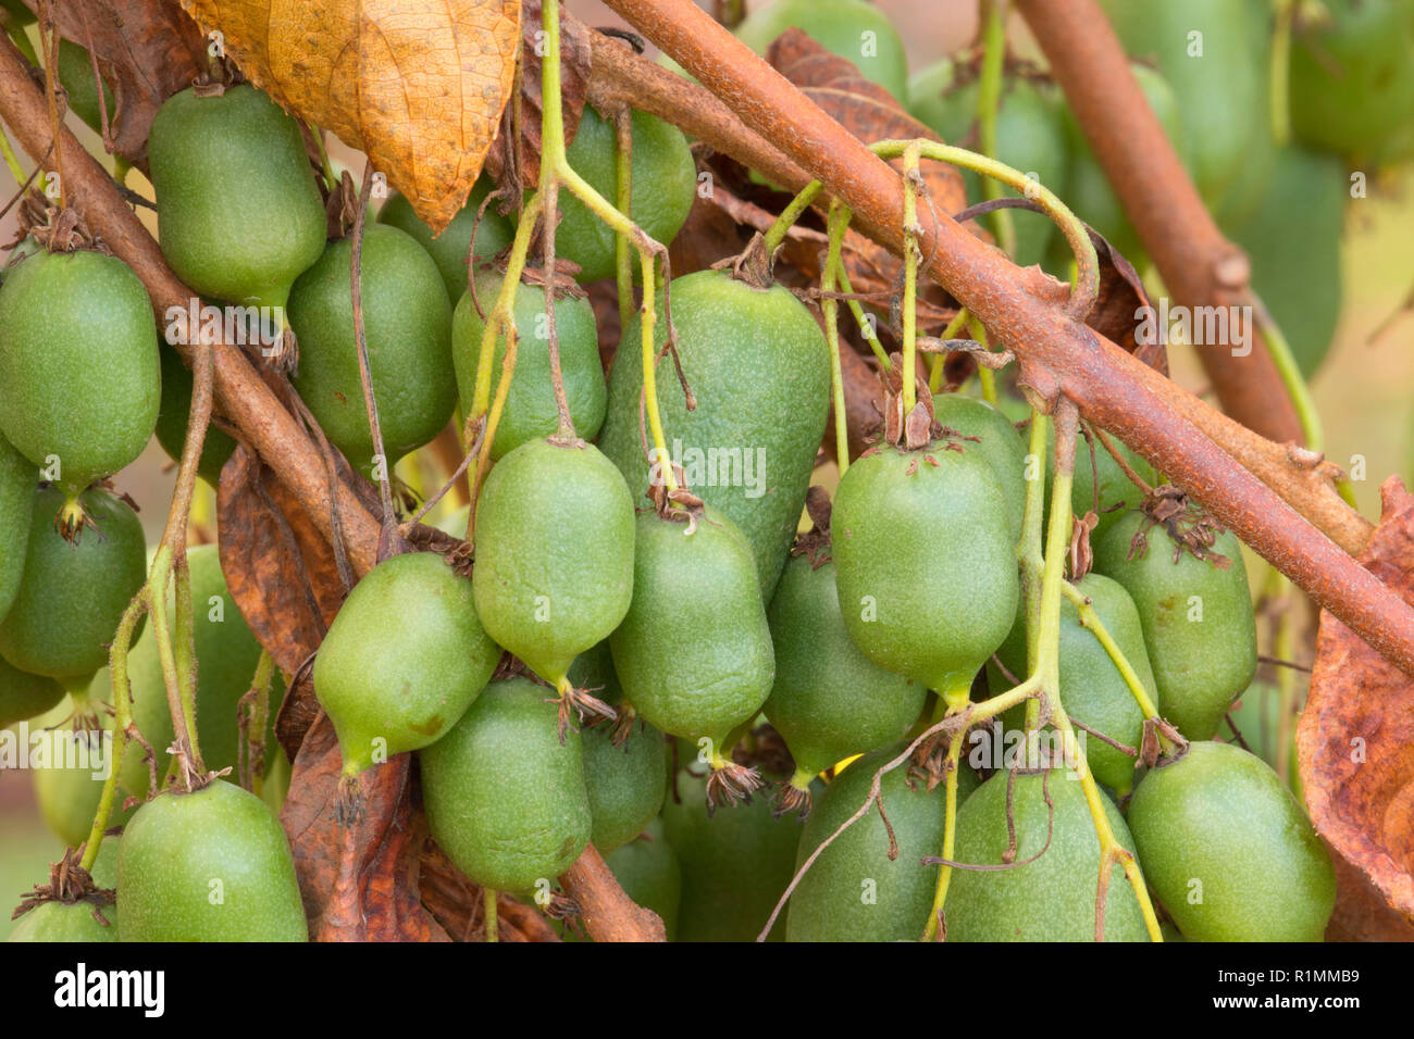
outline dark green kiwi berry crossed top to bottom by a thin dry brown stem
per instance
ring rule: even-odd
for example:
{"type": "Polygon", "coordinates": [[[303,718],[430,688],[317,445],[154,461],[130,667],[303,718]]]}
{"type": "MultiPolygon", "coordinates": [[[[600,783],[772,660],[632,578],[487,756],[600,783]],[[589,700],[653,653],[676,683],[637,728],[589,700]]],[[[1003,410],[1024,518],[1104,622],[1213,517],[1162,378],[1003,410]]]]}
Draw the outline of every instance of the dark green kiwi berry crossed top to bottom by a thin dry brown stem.
{"type": "MultiPolygon", "coordinates": [[[[349,239],[331,242],[290,290],[290,327],[300,341],[293,382],[329,441],[366,471],[373,434],[354,338],[352,259],[349,239]]],[[[359,270],[368,368],[392,468],[441,433],[457,406],[451,307],[437,264],[397,228],[365,228],[359,270]]]]}

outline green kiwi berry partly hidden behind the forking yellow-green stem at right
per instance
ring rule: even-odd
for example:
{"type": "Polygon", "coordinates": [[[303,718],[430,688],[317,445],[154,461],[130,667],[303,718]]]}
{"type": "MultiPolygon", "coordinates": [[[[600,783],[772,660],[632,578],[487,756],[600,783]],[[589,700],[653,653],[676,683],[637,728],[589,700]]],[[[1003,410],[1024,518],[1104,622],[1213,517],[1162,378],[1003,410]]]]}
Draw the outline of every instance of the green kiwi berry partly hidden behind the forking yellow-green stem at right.
{"type": "MultiPolygon", "coordinates": [[[[1086,574],[1075,587],[1092,599],[1090,605],[1100,615],[1100,622],[1118,645],[1134,673],[1138,674],[1150,700],[1162,714],[1164,703],[1154,683],[1148,650],[1144,647],[1140,614],[1128,592],[1116,581],[1100,574],[1086,574]]],[[[1015,676],[1027,674],[1024,614],[1024,609],[1018,612],[1015,626],[997,650],[997,659],[1015,676]]],[[[987,674],[1001,677],[1001,673],[994,671],[990,666],[987,674]]],[[[994,691],[1007,688],[1011,688],[1011,683],[1005,680],[1001,686],[993,684],[994,691]]],[[[1080,614],[1075,604],[1063,597],[1060,599],[1060,703],[1072,718],[1111,739],[1118,739],[1121,744],[1133,748],[1140,746],[1144,736],[1144,712],[1140,710],[1138,701],[1100,640],[1080,625],[1080,614]]],[[[1019,729],[1024,724],[1024,710],[1008,711],[1004,715],[1007,728],[1019,729]]],[[[1134,782],[1134,758],[1114,749],[1103,739],[1090,738],[1086,732],[1076,735],[1085,741],[1086,761],[1090,763],[1094,777],[1111,790],[1127,793],[1134,782]]]]}

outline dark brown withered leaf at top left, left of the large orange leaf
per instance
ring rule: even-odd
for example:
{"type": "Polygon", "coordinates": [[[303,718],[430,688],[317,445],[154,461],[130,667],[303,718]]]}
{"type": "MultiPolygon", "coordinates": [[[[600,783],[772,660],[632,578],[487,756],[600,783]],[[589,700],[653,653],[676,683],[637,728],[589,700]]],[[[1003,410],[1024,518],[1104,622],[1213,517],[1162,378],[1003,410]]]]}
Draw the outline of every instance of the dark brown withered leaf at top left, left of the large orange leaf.
{"type": "MultiPolygon", "coordinates": [[[[38,0],[30,0],[38,8],[38,0]]],[[[55,0],[59,35],[98,55],[113,89],[107,113],[119,155],[147,164],[157,109],[206,69],[206,40],[178,0],[55,0]]]]}

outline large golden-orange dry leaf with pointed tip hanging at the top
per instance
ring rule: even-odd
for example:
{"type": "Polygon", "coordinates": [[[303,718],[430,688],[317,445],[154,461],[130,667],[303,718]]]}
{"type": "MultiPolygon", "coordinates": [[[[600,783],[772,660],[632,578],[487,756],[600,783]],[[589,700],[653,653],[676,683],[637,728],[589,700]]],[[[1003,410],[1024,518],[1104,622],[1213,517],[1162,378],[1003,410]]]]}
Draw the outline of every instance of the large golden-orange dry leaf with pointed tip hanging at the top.
{"type": "Polygon", "coordinates": [[[256,86],[373,167],[440,232],[515,78],[518,0],[182,0],[256,86]]]}

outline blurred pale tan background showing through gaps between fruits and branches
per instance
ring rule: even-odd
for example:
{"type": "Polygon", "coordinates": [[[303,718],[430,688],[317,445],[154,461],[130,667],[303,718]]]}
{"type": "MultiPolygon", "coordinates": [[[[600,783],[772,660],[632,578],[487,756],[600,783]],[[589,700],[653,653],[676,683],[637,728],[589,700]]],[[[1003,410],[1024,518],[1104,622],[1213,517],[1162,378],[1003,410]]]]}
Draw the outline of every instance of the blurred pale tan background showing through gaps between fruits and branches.
{"type": "MultiPolygon", "coordinates": [[[[751,3],[748,8],[758,6],[751,3]]],[[[624,24],[601,3],[568,0],[567,7],[590,25],[624,24]]],[[[896,25],[912,72],[967,47],[977,34],[976,0],[880,0],[878,7],[896,25]]],[[[1008,38],[1015,54],[1036,54],[1025,25],[1015,16],[1008,24],[1008,38]]],[[[95,154],[102,153],[98,136],[72,113],[69,124],[95,154]]],[[[356,153],[341,147],[332,153],[352,170],[362,168],[356,153]]],[[[28,168],[30,158],[21,155],[21,163],[28,168]]],[[[127,185],[151,195],[148,182],[137,171],[129,174],[127,185]]],[[[0,167],[0,196],[10,198],[14,189],[8,171],[0,167]]],[[[156,230],[151,212],[140,212],[156,230]]],[[[1291,219],[1301,218],[1301,206],[1294,206],[1291,219]]],[[[10,213],[0,222],[0,243],[8,245],[14,237],[14,215],[10,213]]],[[[1401,177],[1380,181],[1372,177],[1369,196],[1349,202],[1340,260],[1339,322],[1312,389],[1325,423],[1328,457],[1348,468],[1355,457],[1365,459],[1366,479],[1355,483],[1355,492],[1360,510],[1376,519],[1380,482],[1390,474],[1407,476],[1414,468],[1410,465],[1414,317],[1396,317],[1414,286],[1414,170],[1406,167],[1401,177]],[[1387,331],[1372,342],[1372,334],[1381,327],[1387,331]]],[[[1171,365],[1179,383],[1195,392],[1205,390],[1205,379],[1191,353],[1174,349],[1171,365]]],[[[150,541],[160,536],[174,476],[173,464],[154,442],[116,478],[117,486],[139,503],[150,541]]],[[[209,523],[212,512],[212,495],[204,489],[197,519],[209,523]]],[[[1257,589],[1263,585],[1261,564],[1254,558],[1249,564],[1251,585],[1257,589]]],[[[61,851],[61,841],[47,830],[34,807],[31,776],[23,770],[0,770],[0,906],[14,906],[30,885],[44,881],[48,862],[61,851]]],[[[0,937],[11,926],[7,917],[8,912],[0,913],[0,937]]]]}

